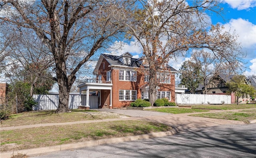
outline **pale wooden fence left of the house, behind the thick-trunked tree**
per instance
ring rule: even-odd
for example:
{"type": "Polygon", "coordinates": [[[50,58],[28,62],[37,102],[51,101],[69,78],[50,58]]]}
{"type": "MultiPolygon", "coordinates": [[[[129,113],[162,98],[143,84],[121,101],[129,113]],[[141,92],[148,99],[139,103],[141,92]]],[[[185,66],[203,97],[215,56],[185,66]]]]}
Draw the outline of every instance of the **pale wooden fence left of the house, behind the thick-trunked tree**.
{"type": "MultiPolygon", "coordinates": [[[[59,95],[58,94],[34,94],[33,98],[37,102],[33,110],[55,110],[58,108],[59,95]]],[[[69,94],[68,107],[70,109],[78,109],[80,104],[79,93],[69,94]]],[[[86,105],[86,95],[82,94],[82,105],[86,105]]],[[[98,108],[98,96],[89,96],[90,109],[98,108]]]]}

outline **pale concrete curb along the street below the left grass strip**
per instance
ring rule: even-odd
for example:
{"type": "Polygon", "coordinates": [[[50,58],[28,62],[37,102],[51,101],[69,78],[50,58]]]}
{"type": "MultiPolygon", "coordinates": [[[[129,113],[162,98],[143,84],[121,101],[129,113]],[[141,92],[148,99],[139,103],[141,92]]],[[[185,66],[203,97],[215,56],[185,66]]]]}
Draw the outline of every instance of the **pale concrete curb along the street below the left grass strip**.
{"type": "Polygon", "coordinates": [[[170,131],[166,131],[166,132],[156,132],[156,133],[149,133],[144,135],[91,140],[86,142],[46,146],[46,147],[32,148],[32,149],[25,149],[25,150],[14,150],[12,152],[2,152],[0,153],[0,158],[10,158],[16,154],[26,154],[27,156],[32,156],[32,155],[46,154],[48,152],[58,152],[58,151],[72,150],[77,148],[93,147],[93,146],[98,146],[103,144],[112,144],[112,143],[118,143],[118,142],[127,142],[127,141],[156,138],[156,137],[166,137],[170,135],[175,135],[177,133],[179,133],[178,129],[173,127],[170,131]]]}

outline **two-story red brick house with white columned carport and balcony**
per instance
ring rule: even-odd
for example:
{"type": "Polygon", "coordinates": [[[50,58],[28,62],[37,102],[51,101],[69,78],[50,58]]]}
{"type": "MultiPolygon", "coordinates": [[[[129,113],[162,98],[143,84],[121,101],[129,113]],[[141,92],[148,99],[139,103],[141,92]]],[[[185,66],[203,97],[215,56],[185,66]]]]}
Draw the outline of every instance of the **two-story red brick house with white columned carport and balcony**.
{"type": "MultiPolygon", "coordinates": [[[[101,54],[93,72],[96,81],[79,85],[80,94],[81,91],[86,91],[86,94],[97,91],[100,97],[99,108],[121,108],[138,98],[148,99],[146,63],[144,57],[134,59],[128,52],[120,56],[101,54]],[[141,70],[141,66],[144,69],[141,70]]],[[[167,98],[175,102],[175,73],[178,71],[169,65],[166,67],[166,70],[159,70],[158,73],[162,78],[157,86],[157,98],[167,98]]],[[[86,107],[89,107],[88,104],[86,102],[86,107]]]]}

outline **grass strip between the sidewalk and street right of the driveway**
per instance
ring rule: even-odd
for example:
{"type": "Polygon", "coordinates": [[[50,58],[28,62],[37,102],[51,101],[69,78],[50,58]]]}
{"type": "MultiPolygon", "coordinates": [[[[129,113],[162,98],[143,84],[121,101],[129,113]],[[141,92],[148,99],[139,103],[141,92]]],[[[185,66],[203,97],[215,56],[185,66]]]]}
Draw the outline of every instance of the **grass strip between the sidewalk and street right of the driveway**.
{"type": "Polygon", "coordinates": [[[226,120],[235,120],[235,121],[243,121],[248,123],[249,120],[256,119],[256,113],[250,112],[219,112],[219,113],[200,113],[200,114],[192,114],[190,116],[197,117],[207,117],[213,119],[226,119],[226,120]]]}

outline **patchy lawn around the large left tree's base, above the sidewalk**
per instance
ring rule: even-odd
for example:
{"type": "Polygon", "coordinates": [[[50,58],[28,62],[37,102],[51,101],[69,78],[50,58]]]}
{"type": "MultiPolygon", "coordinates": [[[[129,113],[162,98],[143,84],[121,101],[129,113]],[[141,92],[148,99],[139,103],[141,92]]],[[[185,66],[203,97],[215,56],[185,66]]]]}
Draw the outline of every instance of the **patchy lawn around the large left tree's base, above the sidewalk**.
{"type": "Polygon", "coordinates": [[[30,111],[13,114],[7,120],[1,121],[1,127],[35,125],[41,123],[63,123],[86,120],[114,119],[128,117],[117,113],[74,109],[70,113],[54,113],[53,110],[30,111]]]}

